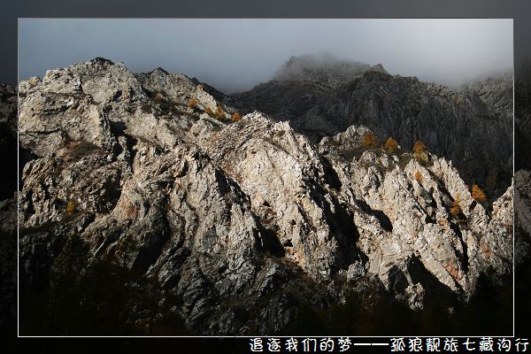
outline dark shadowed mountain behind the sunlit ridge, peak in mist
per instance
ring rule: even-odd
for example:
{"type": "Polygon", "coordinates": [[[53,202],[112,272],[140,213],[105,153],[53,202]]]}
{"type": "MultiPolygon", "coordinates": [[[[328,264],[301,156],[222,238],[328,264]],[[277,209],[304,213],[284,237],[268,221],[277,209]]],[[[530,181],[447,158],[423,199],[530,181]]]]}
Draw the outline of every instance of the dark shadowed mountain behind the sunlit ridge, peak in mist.
{"type": "Polygon", "coordinates": [[[392,136],[406,148],[425,142],[449,158],[467,183],[480,184],[491,196],[501,196],[511,184],[512,76],[453,90],[390,75],[381,65],[358,65],[350,74],[341,66],[318,69],[304,58],[285,66],[295,65],[296,74],[237,96],[275,119],[290,120],[313,141],[364,125],[381,141],[392,136]]]}

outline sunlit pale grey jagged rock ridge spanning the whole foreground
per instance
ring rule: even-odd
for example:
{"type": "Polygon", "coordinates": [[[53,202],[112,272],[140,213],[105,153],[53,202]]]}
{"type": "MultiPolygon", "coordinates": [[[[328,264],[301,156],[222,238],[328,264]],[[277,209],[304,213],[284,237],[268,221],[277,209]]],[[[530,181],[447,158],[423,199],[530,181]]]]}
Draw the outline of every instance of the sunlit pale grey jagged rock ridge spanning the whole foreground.
{"type": "MultiPolygon", "coordinates": [[[[427,87],[373,69],[342,86],[336,104],[367,99],[372,110],[369,87],[387,81],[427,87]]],[[[305,89],[317,95],[317,84],[305,89]]],[[[403,92],[393,99],[418,109],[403,92]]],[[[20,144],[36,156],[19,202],[24,289],[38,288],[77,235],[90,258],[112,255],[157,280],[158,303],[194,333],[286,334],[297,309],[351,291],[419,311],[433,288],[455,302],[481,273],[511,272],[512,188],[482,205],[447,158],[364,147],[370,127],[348,118],[358,106],[315,142],[300,134],[310,112],[279,122],[184,75],[133,74],[99,58],[22,81],[19,97],[20,144]],[[235,112],[248,113],[233,121],[235,112]]],[[[407,134],[396,137],[416,138],[407,134]]]]}

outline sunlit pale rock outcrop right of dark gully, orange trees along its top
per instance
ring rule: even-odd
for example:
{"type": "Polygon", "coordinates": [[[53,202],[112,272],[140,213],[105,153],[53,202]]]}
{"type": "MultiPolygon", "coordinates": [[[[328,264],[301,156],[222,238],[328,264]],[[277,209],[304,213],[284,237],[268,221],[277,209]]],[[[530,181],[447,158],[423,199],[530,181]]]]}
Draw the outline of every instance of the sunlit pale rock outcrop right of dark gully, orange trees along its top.
{"type": "MultiPolygon", "coordinates": [[[[352,131],[351,127],[335,135],[333,141],[341,142],[341,135],[352,135],[352,131]]],[[[358,128],[358,132],[366,133],[365,128],[358,128]]],[[[373,273],[379,274],[384,284],[390,284],[389,268],[401,265],[412,286],[407,269],[411,258],[419,258],[429,273],[454,291],[471,291],[474,279],[491,261],[502,273],[509,271],[512,222],[507,221],[512,218],[512,189],[496,202],[496,212],[489,217],[473,200],[458,171],[444,158],[429,155],[426,165],[408,154],[391,157],[381,150],[364,151],[359,143],[361,136],[350,139],[358,145],[352,143],[349,150],[329,141],[323,139],[320,146],[335,160],[332,165],[345,180],[342,185],[350,186],[344,195],[351,194],[350,204],[361,201],[366,211],[380,219],[382,229],[367,240],[362,235],[360,241],[367,245],[362,250],[373,273]],[[358,151],[352,151],[356,147],[358,151]],[[345,163],[345,157],[350,158],[353,152],[361,156],[355,155],[345,163]],[[464,220],[450,215],[450,206],[456,200],[466,217],[466,227],[464,220]],[[389,236],[382,239],[381,235],[386,234],[389,236]],[[379,243],[379,250],[374,250],[379,243]]]]}

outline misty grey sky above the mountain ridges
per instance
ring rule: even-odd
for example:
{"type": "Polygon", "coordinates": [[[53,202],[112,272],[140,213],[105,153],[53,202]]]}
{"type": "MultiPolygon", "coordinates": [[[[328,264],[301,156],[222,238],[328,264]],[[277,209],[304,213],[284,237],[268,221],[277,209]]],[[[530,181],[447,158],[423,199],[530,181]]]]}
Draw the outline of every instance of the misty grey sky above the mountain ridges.
{"type": "Polygon", "coordinates": [[[458,85],[512,70],[512,19],[19,19],[19,80],[104,57],[230,93],[323,51],[458,85]]]}

